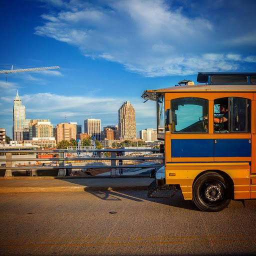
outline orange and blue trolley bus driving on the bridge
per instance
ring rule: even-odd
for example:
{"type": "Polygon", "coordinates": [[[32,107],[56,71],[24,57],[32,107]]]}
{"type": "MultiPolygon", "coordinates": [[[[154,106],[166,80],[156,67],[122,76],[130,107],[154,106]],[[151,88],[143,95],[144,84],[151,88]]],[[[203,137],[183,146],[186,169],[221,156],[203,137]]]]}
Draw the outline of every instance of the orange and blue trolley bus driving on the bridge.
{"type": "Polygon", "coordinates": [[[219,211],[231,199],[256,198],[256,73],[199,72],[197,82],[145,90],[156,101],[165,164],[149,197],[185,200],[219,211]]]}

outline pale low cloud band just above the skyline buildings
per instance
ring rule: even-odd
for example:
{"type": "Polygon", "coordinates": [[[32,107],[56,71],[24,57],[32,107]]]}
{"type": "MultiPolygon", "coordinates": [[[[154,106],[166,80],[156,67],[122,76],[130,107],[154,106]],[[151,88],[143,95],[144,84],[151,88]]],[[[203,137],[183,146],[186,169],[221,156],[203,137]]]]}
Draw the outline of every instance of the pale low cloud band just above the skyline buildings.
{"type": "MultiPolygon", "coordinates": [[[[109,121],[116,123],[118,121],[118,109],[126,101],[125,98],[64,96],[52,93],[25,94],[20,98],[22,104],[26,106],[27,118],[57,119],[56,116],[66,115],[84,120],[90,116],[96,116],[105,121],[109,117],[114,118],[114,120],[109,121]]],[[[143,104],[143,99],[140,98],[132,98],[130,101],[135,108],[137,118],[155,116],[154,102],[152,102],[153,104],[143,104]]]]}

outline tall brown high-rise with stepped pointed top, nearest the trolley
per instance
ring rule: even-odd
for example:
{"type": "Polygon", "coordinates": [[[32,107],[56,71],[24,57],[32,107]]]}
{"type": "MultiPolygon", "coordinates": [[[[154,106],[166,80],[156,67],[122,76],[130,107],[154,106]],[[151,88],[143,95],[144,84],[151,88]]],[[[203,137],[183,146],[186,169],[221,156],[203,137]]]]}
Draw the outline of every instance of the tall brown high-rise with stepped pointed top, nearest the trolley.
{"type": "Polygon", "coordinates": [[[118,132],[121,139],[136,137],[135,110],[130,101],[125,101],[118,110],[118,132]]]}

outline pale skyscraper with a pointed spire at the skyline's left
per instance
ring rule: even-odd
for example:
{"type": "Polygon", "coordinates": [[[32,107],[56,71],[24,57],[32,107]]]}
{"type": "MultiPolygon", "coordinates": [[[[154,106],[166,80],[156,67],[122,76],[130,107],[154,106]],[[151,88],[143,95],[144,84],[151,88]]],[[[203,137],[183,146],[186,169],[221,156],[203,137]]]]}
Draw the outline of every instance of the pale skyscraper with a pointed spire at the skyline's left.
{"type": "Polygon", "coordinates": [[[13,140],[29,139],[29,122],[30,119],[26,119],[26,108],[21,104],[21,99],[19,98],[17,91],[16,98],[13,102],[13,140]]]}

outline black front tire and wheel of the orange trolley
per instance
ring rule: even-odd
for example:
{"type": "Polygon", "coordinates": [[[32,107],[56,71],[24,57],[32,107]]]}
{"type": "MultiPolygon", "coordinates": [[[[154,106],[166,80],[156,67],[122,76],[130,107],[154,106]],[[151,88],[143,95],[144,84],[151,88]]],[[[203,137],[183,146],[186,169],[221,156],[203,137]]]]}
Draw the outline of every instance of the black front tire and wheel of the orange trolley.
{"type": "Polygon", "coordinates": [[[193,184],[195,205],[202,211],[220,211],[230,202],[231,186],[216,172],[206,172],[193,184]]]}

